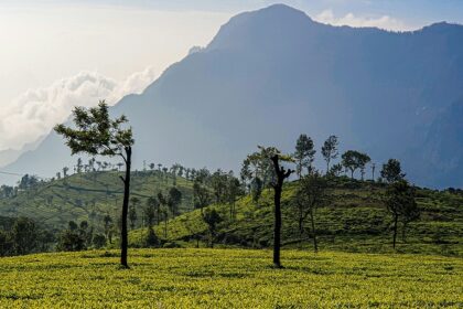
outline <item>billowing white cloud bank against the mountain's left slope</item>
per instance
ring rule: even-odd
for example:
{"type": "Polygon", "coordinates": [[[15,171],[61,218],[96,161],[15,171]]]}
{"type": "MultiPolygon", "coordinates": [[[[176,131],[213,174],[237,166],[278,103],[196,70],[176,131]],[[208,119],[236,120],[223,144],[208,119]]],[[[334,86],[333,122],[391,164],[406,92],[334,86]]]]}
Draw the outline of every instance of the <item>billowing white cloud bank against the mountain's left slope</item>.
{"type": "Polygon", "coordinates": [[[101,99],[114,105],[125,95],[141,93],[157,77],[152,67],[122,82],[96,72],[80,72],[49,87],[29,89],[0,110],[0,150],[20,149],[46,135],[69,117],[74,106],[90,107],[101,99]]]}

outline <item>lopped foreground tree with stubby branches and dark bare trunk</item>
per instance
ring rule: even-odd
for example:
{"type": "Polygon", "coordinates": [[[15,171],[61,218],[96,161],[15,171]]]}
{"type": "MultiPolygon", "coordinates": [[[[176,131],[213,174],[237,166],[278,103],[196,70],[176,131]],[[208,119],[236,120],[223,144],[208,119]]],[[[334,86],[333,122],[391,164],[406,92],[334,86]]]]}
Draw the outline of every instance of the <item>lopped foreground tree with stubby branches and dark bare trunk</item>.
{"type": "Polygon", "coordinates": [[[280,160],[288,161],[288,157],[280,156],[279,151],[271,158],[273,163],[276,180],[271,183],[274,191],[274,231],[273,231],[273,265],[277,268],[281,268],[280,262],[280,247],[281,247],[281,193],[283,191],[283,182],[287,178],[293,173],[290,169],[280,167],[280,160]]]}

